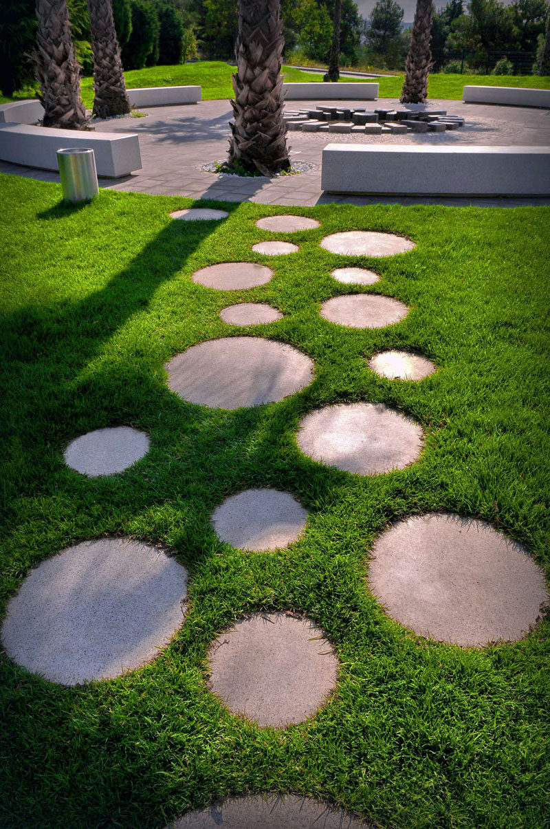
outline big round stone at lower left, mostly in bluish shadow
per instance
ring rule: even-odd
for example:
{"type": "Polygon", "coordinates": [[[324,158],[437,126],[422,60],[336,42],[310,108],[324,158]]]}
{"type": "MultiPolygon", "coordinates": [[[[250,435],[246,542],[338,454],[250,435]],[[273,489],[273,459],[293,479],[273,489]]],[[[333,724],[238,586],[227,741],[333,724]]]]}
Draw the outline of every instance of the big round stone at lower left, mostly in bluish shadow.
{"type": "Polygon", "coordinates": [[[187,571],[129,538],[83,541],[42,561],[7,606],[2,642],[52,682],[109,679],[157,657],[183,621],[187,571]]]}

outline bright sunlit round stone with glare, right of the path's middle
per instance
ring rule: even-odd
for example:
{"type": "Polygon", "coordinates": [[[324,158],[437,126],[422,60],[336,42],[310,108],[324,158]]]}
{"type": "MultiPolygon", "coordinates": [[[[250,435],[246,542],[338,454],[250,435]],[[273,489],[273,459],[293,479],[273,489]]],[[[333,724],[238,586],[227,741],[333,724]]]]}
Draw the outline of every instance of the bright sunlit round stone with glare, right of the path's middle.
{"type": "Polygon", "coordinates": [[[306,414],[297,441],[313,460],[379,475],[416,461],[423,436],[415,420],[383,404],[339,403],[306,414]]]}

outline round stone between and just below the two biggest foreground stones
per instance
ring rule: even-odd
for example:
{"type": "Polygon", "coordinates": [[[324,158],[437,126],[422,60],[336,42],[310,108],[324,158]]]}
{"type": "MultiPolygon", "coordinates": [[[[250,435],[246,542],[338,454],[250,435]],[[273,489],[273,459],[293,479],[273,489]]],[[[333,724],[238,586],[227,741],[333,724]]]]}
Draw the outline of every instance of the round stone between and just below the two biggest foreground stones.
{"type": "Polygon", "coordinates": [[[253,613],[221,633],[209,652],[210,686],[234,714],[284,728],[324,705],[338,659],[321,628],[286,613],[253,613]]]}

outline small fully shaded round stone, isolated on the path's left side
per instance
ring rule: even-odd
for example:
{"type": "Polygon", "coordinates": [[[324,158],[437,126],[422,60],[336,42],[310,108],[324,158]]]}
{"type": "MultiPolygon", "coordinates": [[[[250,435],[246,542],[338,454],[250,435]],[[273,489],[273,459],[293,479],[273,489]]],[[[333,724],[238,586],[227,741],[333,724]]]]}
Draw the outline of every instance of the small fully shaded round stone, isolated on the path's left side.
{"type": "Polygon", "coordinates": [[[65,449],[65,463],[76,472],[99,478],[131,467],[149,451],[149,438],[130,426],[95,429],[71,441],[65,449]]]}

